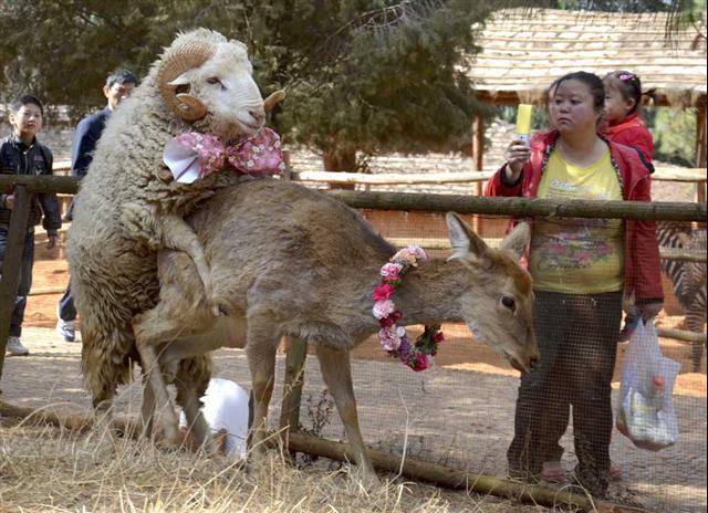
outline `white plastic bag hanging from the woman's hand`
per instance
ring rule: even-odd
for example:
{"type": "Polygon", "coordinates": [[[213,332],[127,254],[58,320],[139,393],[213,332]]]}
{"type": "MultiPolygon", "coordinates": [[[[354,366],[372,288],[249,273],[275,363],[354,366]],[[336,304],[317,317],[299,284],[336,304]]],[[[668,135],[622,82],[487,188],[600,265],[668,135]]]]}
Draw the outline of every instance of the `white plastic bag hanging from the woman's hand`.
{"type": "Polygon", "coordinates": [[[662,355],[654,323],[637,323],[624,355],[616,426],[639,449],[658,451],[678,440],[671,397],[679,368],[662,355]]]}

